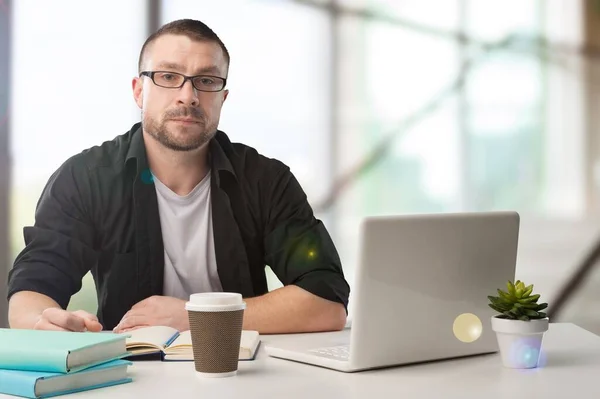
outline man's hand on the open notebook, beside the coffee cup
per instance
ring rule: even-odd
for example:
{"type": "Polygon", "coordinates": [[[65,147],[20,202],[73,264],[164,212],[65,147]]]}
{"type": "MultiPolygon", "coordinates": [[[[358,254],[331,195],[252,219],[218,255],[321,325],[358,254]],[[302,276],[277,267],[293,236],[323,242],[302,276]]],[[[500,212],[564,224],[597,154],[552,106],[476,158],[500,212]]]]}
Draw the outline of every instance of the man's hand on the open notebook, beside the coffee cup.
{"type": "Polygon", "coordinates": [[[151,296],[133,305],[123,316],[114,332],[121,333],[146,326],[169,326],[178,331],[189,330],[187,310],[183,299],[151,296]]]}

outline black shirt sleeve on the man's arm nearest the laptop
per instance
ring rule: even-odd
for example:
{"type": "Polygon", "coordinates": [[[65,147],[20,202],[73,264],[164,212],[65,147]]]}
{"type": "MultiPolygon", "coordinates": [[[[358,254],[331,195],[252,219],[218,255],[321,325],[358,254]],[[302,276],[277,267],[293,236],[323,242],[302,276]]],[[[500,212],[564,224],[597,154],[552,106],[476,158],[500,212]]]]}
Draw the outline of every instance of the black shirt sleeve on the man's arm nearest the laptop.
{"type": "Polygon", "coordinates": [[[265,198],[265,259],[284,285],[294,284],[348,311],[350,287],[323,223],[289,168],[278,164],[265,198]]]}

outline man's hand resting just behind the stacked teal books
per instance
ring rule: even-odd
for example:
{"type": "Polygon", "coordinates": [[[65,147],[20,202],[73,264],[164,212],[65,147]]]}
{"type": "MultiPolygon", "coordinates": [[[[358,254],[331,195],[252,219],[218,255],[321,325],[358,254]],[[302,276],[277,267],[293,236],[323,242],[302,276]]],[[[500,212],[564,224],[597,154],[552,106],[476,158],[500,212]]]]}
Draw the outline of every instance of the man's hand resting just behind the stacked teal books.
{"type": "Polygon", "coordinates": [[[102,325],[93,314],[83,310],[68,312],[59,308],[44,310],[33,328],[55,331],[102,331],[102,325]]]}

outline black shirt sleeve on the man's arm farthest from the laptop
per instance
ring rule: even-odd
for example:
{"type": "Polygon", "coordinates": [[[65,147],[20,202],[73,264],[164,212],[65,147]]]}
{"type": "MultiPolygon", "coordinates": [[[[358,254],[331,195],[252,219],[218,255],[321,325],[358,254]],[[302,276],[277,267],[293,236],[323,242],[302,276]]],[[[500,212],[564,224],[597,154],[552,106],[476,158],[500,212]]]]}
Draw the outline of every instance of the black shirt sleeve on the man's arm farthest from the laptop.
{"type": "Polygon", "coordinates": [[[8,298],[19,291],[47,295],[63,309],[81,289],[81,280],[97,261],[94,229],[88,220],[91,195],[87,169],[73,159],[48,180],[35,212],[23,229],[25,248],[8,277],[8,298]]]}

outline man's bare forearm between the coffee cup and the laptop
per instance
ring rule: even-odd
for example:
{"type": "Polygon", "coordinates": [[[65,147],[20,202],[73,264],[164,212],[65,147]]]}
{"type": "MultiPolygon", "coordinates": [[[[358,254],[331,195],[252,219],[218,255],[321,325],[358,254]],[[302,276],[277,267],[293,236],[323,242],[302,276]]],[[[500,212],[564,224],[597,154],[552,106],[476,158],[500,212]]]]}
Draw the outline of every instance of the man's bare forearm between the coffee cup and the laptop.
{"type": "Polygon", "coordinates": [[[246,298],[244,329],[263,334],[336,331],[346,324],[346,310],[289,285],[256,298],[246,298]]]}

